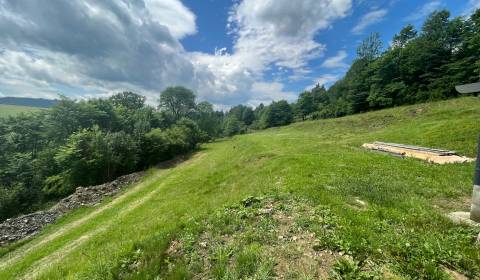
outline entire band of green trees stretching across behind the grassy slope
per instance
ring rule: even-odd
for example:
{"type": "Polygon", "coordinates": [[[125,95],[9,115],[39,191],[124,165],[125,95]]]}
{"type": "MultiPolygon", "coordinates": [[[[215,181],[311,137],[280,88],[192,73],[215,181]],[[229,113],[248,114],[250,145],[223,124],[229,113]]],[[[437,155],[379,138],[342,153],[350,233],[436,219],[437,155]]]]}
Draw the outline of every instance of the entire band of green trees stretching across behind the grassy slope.
{"type": "Polygon", "coordinates": [[[420,31],[404,27],[384,51],[379,34],[371,34],[343,79],[328,90],[317,85],[293,104],[215,111],[183,87],[163,91],[157,108],[132,92],[87,101],[62,97],[48,110],[0,119],[0,221],[215,138],[452,98],[455,85],[476,82],[479,74],[480,10],[453,19],[438,11],[420,31]]]}

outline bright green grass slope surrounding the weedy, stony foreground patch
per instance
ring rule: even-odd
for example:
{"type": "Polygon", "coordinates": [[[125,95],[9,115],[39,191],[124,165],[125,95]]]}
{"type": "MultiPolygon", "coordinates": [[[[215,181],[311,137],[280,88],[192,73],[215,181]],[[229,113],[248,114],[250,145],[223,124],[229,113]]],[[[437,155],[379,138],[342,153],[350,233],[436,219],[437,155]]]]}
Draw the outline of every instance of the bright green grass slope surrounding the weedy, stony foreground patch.
{"type": "Polygon", "coordinates": [[[154,278],[168,265],[170,241],[185,228],[224,205],[272,192],[328,207],[338,224],[321,240],[329,250],[371,259],[398,277],[448,279],[447,270],[478,277],[478,229],[444,218],[449,211],[468,210],[474,164],[433,165],[360,146],[379,140],[474,156],[479,119],[479,99],[459,98],[206,144],[175,168],[151,171],[145,178],[151,183],[127,191],[115,207],[35,246],[96,208],[74,212],[6,254],[0,279],[154,278]],[[366,206],[358,207],[358,200],[366,206]],[[8,261],[17,254],[22,257],[8,261]],[[132,256],[136,266],[125,271],[132,256]]]}

